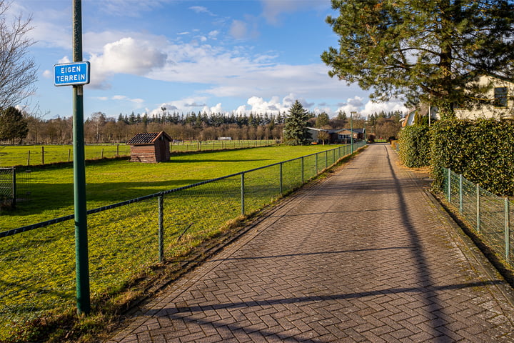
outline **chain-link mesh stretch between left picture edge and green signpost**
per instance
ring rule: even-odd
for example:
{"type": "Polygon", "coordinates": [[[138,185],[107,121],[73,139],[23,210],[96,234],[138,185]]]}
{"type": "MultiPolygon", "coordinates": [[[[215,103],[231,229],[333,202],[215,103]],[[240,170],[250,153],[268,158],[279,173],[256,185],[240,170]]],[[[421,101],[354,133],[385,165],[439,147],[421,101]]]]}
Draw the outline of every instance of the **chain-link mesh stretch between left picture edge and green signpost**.
{"type": "Polygon", "coordinates": [[[0,242],[0,341],[39,317],[74,305],[73,222],[0,242]]]}

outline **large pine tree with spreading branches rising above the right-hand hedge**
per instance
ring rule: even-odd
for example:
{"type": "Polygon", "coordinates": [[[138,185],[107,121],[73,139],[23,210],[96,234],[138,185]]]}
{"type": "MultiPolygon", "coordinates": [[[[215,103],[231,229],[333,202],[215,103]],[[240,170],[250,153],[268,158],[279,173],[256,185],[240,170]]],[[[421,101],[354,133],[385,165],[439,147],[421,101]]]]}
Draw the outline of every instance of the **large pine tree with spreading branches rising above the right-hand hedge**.
{"type": "Polygon", "coordinates": [[[507,0],[332,0],[339,48],[322,54],[330,76],[373,90],[378,101],[430,101],[452,117],[480,101],[482,74],[512,78],[514,4],[507,0]]]}

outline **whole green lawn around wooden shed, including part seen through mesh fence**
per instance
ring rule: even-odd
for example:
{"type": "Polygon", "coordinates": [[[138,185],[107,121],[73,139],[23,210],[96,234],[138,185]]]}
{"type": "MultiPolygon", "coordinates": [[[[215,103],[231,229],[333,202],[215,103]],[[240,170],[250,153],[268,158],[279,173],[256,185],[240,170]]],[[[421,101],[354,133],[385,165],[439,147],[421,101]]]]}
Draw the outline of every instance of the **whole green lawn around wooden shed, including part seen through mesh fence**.
{"type": "MultiPolygon", "coordinates": [[[[86,166],[88,207],[93,209],[334,147],[273,146],[218,151],[173,156],[171,161],[161,164],[94,161],[86,166]]],[[[303,165],[306,179],[338,157],[331,151],[306,158],[303,165]]],[[[245,213],[260,209],[280,196],[280,174],[286,192],[300,186],[303,168],[301,160],[296,160],[247,173],[245,213]]],[[[71,166],[49,166],[34,169],[31,174],[31,199],[21,203],[16,211],[2,213],[0,231],[73,213],[71,166]]],[[[166,195],[163,199],[165,259],[169,263],[180,261],[202,242],[230,229],[228,225],[240,214],[239,176],[166,195]]],[[[0,341],[46,340],[38,336],[42,325],[46,326],[43,332],[49,330],[58,337],[54,342],[63,342],[62,337],[70,330],[89,332],[92,327],[105,325],[108,321],[104,317],[105,311],[108,312],[105,304],[114,306],[116,312],[128,299],[138,296],[138,291],[129,287],[132,280],[151,279],[156,274],[153,267],[158,264],[158,227],[155,198],[88,216],[91,299],[94,307],[101,309],[96,309],[96,317],[84,321],[74,316],[73,221],[0,239],[0,341]],[[75,326],[64,327],[63,316],[74,318],[75,326]]]]}

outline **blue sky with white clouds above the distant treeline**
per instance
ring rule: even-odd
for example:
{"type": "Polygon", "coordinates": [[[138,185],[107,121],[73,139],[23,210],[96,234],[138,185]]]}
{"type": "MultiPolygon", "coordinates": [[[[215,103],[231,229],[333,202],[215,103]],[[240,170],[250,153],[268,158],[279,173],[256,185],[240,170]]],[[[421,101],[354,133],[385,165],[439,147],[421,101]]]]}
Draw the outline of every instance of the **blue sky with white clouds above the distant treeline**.
{"type": "MultiPolygon", "coordinates": [[[[72,115],[72,87],[54,86],[54,65],[73,61],[71,0],[14,0],[31,16],[38,66],[26,109],[44,119],[72,115]]],[[[321,54],[337,47],[326,24],[330,0],[82,0],[84,116],[103,112],[276,114],[298,100],[308,111],[406,111],[373,103],[368,91],[328,76],[321,54]]]]}

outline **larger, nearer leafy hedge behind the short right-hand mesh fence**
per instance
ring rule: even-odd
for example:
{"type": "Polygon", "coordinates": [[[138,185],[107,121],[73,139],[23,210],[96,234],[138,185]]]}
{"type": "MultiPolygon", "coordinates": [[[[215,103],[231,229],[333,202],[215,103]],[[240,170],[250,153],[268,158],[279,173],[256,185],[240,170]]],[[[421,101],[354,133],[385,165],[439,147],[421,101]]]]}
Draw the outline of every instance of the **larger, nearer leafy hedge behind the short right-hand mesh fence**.
{"type": "Polygon", "coordinates": [[[430,127],[433,189],[443,192],[441,167],[498,195],[514,194],[514,123],[449,119],[430,127]]]}

